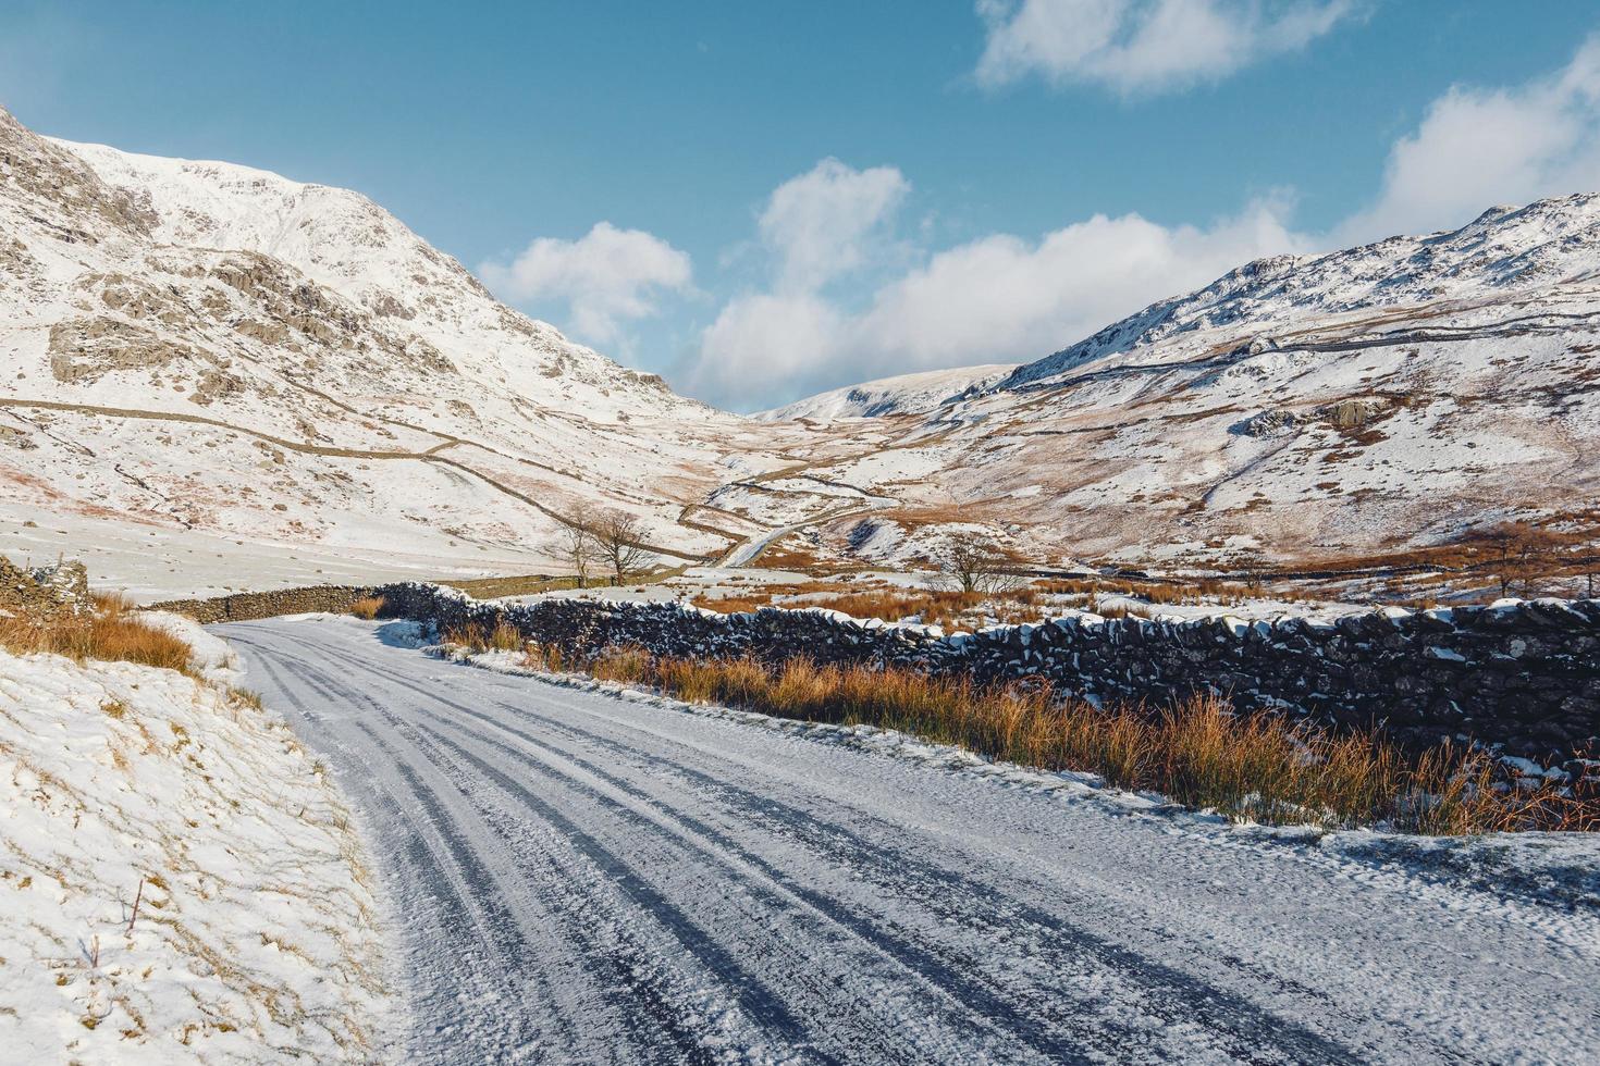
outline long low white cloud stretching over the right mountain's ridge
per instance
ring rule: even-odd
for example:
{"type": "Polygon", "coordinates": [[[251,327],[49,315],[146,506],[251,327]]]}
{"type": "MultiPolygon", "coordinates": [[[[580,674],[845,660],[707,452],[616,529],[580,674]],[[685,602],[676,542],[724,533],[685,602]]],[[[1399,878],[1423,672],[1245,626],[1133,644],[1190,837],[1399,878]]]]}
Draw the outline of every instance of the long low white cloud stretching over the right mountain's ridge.
{"type": "Polygon", "coordinates": [[[947,366],[1035,360],[1240,262],[1301,249],[1266,200],[1210,227],[1094,216],[1038,240],[992,235],[930,256],[846,313],[814,294],[747,296],[701,337],[682,384],[712,403],[782,403],[947,366]]]}

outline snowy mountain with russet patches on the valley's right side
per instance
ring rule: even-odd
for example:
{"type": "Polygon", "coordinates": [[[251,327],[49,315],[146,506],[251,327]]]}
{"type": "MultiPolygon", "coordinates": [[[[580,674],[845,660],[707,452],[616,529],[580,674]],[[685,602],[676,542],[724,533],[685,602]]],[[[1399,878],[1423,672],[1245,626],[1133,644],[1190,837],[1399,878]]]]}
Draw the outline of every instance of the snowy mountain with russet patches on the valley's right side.
{"type": "Polygon", "coordinates": [[[1582,193],[1248,264],[978,395],[878,419],[870,470],[808,473],[906,500],[870,537],[829,531],[890,559],[955,519],[1026,531],[1030,555],[1234,569],[1507,516],[1595,535],[1597,352],[1600,195],[1582,193]]]}

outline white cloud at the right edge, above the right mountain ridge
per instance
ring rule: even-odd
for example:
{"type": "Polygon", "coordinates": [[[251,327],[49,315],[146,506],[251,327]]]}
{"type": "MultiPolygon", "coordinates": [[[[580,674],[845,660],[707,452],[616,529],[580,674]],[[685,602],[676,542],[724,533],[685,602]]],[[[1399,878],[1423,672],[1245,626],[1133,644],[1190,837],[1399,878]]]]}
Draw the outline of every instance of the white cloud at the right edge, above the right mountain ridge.
{"type": "Polygon", "coordinates": [[[1557,74],[1512,89],[1456,86],[1389,153],[1376,201],[1339,245],[1469,222],[1498,203],[1600,189],[1600,37],[1557,74]]]}

